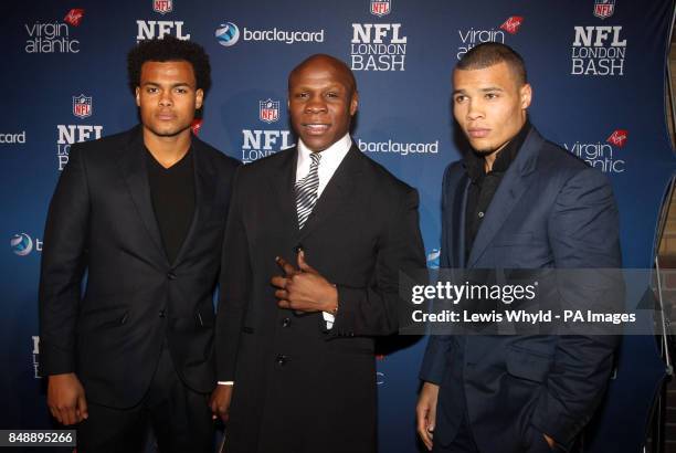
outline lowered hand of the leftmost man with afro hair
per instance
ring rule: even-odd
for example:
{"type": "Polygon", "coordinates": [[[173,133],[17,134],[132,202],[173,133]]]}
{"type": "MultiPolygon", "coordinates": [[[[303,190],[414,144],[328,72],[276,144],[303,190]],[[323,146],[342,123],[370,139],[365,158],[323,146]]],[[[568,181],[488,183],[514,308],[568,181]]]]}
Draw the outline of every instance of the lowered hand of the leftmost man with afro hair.
{"type": "Polygon", "coordinates": [[[59,423],[75,424],[89,417],[84,388],[74,372],[47,379],[47,407],[59,423]]]}

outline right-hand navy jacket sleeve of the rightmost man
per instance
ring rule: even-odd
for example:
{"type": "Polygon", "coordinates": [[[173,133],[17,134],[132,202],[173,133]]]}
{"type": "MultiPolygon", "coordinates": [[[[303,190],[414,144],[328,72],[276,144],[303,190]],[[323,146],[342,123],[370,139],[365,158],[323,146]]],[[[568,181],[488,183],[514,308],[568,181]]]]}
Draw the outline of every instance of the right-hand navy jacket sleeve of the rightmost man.
{"type": "MultiPolygon", "coordinates": [[[[548,228],[557,267],[619,268],[622,265],[617,208],[612,188],[601,172],[588,168],[567,181],[557,197],[548,228]]],[[[563,301],[579,297],[572,294],[577,291],[574,285],[561,286],[563,301]]],[[[598,289],[603,288],[592,288],[598,289]]],[[[614,294],[622,297],[620,293],[614,294]]],[[[535,428],[563,446],[573,442],[603,397],[617,341],[615,335],[558,338],[553,366],[532,413],[535,428]]]]}

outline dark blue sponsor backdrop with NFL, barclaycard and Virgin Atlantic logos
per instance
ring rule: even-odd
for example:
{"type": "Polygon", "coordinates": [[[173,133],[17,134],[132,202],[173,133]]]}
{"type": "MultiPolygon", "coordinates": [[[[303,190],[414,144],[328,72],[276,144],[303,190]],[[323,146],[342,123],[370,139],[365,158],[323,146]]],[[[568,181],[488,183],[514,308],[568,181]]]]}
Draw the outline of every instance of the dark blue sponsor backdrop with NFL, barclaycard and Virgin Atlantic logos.
{"type": "MultiPolygon", "coordinates": [[[[0,41],[1,429],[51,420],[36,375],[38,280],[46,208],[72,144],[138,120],[126,53],[175,35],[202,44],[213,87],[200,138],[243,162],[292,146],[288,72],[314,53],[355,72],[363,154],[419,189],[427,264],[439,265],[443,170],[460,159],[451,72],[486,41],[524,55],[530,119],[611,178],[626,267],[651,267],[655,224],[676,168],[665,124],[665,62],[674,4],[665,0],[59,0],[3,6],[0,41]]],[[[380,451],[412,452],[425,340],[382,341],[380,451]]],[[[626,337],[585,451],[637,452],[664,376],[652,337],[626,337]]],[[[346,433],[349,435],[349,433],[346,433]]]]}

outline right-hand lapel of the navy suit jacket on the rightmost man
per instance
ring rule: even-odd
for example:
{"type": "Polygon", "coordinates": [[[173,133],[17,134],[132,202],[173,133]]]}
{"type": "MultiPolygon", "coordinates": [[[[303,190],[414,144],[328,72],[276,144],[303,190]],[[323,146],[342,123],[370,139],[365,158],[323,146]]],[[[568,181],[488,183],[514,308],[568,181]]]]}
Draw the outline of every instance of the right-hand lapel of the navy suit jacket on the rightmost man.
{"type": "Polygon", "coordinates": [[[535,169],[542,141],[542,137],[534,128],[528,134],[516,159],[505,172],[476,233],[467,262],[468,267],[475,266],[493,238],[503,228],[516,203],[535,180],[535,169]]]}

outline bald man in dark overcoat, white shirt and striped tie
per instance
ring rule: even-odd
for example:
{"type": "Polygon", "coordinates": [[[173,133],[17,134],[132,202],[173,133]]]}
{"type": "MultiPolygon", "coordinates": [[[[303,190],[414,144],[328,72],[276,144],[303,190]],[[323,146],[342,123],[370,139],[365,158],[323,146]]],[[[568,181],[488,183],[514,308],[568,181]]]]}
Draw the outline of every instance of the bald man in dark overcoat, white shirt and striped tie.
{"type": "Polygon", "coordinates": [[[237,172],[212,399],[229,453],[376,451],[373,336],[425,259],[418,192],[351,141],[357,106],[346,64],[310,56],[288,78],[298,146],[237,172]]]}

